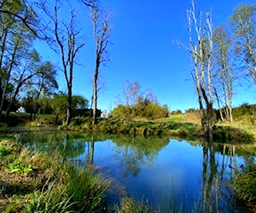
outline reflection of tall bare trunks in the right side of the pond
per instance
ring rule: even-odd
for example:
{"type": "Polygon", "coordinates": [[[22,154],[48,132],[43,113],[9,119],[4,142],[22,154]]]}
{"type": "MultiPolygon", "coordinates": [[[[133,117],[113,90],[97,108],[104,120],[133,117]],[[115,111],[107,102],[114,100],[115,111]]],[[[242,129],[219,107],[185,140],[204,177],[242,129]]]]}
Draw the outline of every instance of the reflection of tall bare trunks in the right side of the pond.
{"type": "MultiPolygon", "coordinates": [[[[202,212],[240,212],[243,207],[236,203],[230,192],[230,181],[234,180],[242,166],[236,162],[236,146],[207,144],[202,152],[202,188],[198,208],[202,212]]],[[[252,157],[244,157],[244,160],[246,163],[252,157]]]]}

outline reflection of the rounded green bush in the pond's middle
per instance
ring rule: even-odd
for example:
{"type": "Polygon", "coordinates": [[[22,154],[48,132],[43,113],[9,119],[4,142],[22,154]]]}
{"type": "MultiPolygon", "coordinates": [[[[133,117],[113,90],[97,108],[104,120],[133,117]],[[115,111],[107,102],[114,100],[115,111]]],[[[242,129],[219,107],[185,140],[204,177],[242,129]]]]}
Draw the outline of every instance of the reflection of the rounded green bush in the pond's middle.
{"type": "Polygon", "coordinates": [[[150,166],[160,149],[169,143],[169,138],[130,136],[114,138],[113,142],[116,143],[114,152],[121,165],[120,174],[137,176],[141,171],[140,165],[150,166]]]}

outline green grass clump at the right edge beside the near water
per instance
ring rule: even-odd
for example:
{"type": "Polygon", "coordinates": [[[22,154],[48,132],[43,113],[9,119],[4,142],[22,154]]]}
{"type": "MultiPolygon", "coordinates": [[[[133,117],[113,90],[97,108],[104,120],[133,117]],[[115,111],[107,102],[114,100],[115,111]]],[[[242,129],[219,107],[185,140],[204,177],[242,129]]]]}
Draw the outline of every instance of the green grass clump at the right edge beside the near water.
{"type": "Polygon", "coordinates": [[[236,176],[235,191],[239,199],[256,204],[256,164],[249,164],[236,176]]]}

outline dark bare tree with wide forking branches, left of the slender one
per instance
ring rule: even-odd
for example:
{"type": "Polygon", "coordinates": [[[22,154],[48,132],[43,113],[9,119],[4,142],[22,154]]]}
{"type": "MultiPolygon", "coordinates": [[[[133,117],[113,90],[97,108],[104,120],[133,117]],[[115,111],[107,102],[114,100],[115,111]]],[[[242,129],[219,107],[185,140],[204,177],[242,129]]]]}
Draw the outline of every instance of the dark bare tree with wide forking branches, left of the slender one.
{"type": "Polygon", "coordinates": [[[85,43],[79,43],[79,30],[75,27],[75,14],[70,11],[70,19],[68,23],[59,19],[59,9],[57,1],[55,1],[55,7],[53,14],[47,10],[46,5],[42,4],[41,8],[44,9],[45,14],[53,23],[53,37],[55,37],[55,43],[57,50],[61,52],[61,64],[62,71],[64,73],[67,83],[67,125],[70,124],[72,118],[72,90],[73,90],[73,66],[75,58],[79,52],[79,49],[84,47],[85,43]]]}

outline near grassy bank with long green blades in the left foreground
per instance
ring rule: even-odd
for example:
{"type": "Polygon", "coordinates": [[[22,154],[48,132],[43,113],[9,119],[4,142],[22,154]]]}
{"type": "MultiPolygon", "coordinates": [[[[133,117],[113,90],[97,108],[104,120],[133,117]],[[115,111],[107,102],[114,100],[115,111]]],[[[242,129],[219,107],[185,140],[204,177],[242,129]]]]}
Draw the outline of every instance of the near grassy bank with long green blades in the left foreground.
{"type": "Polygon", "coordinates": [[[106,208],[110,181],[57,154],[32,153],[15,139],[0,141],[1,212],[95,212],[106,208]]]}

